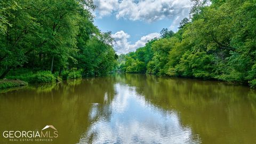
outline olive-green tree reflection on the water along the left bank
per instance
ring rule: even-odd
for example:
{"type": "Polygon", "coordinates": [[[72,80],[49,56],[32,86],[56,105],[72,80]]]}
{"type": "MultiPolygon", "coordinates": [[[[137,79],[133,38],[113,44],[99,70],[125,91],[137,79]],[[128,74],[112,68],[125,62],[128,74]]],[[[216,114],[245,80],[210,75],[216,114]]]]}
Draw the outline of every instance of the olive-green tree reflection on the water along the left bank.
{"type": "Polygon", "coordinates": [[[58,139],[51,143],[77,143],[90,125],[90,103],[103,103],[106,93],[113,99],[113,80],[90,78],[1,93],[0,143],[13,143],[2,137],[3,131],[42,130],[45,125],[54,125],[59,131],[58,139]]]}

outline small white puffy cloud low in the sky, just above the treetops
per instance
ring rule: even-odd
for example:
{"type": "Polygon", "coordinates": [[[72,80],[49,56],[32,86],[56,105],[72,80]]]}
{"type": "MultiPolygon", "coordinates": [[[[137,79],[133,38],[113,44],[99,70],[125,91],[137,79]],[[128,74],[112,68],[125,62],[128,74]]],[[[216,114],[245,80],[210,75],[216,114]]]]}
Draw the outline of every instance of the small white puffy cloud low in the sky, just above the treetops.
{"type": "Polygon", "coordinates": [[[112,35],[113,38],[115,38],[114,43],[114,49],[118,54],[121,53],[129,53],[132,51],[135,51],[139,47],[145,46],[145,44],[155,37],[159,37],[160,34],[158,33],[151,33],[146,36],[142,36],[139,41],[135,42],[134,44],[131,44],[131,42],[128,41],[128,38],[130,38],[130,35],[125,33],[123,30],[117,31],[115,34],[112,35]]]}

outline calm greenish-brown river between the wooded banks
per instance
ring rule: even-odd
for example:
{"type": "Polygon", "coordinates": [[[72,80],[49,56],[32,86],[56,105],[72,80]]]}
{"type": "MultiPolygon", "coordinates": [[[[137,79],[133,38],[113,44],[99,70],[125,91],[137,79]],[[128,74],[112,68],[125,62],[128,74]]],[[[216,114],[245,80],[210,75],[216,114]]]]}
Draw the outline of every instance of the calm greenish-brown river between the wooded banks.
{"type": "Polygon", "coordinates": [[[0,93],[0,132],[0,143],[256,143],[256,92],[139,74],[31,85],[0,93]],[[46,125],[50,142],[3,137],[46,125]]]}

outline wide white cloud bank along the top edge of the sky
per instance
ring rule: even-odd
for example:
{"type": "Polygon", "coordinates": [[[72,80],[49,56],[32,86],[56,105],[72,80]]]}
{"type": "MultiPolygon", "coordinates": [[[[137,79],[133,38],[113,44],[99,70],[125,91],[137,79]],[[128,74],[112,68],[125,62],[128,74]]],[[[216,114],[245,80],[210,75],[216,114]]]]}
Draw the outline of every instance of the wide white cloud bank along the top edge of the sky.
{"type": "Polygon", "coordinates": [[[94,0],[94,3],[100,17],[115,11],[117,19],[147,22],[164,18],[182,20],[188,16],[191,7],[190,0],[94,0]]]}

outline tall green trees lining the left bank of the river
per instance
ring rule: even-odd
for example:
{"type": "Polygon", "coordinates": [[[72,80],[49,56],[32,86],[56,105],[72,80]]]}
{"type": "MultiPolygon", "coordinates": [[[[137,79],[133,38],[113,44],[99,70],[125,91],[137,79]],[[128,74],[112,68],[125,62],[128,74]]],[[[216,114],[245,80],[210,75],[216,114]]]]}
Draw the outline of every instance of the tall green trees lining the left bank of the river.
{"type": "Polygon", "coordinates": [[[92,0],[1,0],[0,78],[20,78],[20,69],[30,76],[23,79],[42,82],[113,70],[113,38],[94,26],[94,9],[92,0]]]}

